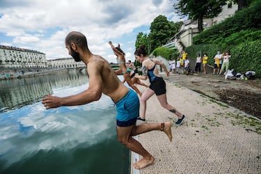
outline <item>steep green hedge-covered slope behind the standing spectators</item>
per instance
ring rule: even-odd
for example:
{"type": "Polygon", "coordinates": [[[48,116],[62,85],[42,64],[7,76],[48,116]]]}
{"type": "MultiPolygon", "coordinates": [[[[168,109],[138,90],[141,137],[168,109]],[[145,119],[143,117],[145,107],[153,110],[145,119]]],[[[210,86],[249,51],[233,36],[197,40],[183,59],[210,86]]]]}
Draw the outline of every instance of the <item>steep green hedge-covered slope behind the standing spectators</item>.
{"type": "Polygon", "coordinates": [[[216,51],[230,52],[230,69],[240,73],[255,71],[256,77],[261,77],[260,11],[261,1],[253,1],[233,17],[196,35],[186,52],[191,58],[196,57],[197,52],[207,53],[209,65],[214,65],[216,51]]]}

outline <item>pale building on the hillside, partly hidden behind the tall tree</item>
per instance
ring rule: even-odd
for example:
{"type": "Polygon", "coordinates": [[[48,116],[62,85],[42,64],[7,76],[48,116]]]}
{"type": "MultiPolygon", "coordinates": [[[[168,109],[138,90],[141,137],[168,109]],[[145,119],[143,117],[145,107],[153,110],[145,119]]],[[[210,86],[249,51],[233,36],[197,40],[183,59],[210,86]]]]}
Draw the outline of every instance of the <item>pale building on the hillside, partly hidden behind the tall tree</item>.
{"type": "MultiPolygon", "coordinates": [[[[223,10],[217,17],[212,19],[203,19],[203,28],[207,29],[214,24],[219,24],[224,19],[232,17],[238,9],[238,5],[232,2],[227,3],[226,6],[223,6],[223,10]]],[[[166,45],[163,47],[176,47],[179,52],[185,47],[193,45],[193,37],[198,34],[198,22],[191,20],[184,20],[182,26],[178,33],[176,33],[166,45]]]]}

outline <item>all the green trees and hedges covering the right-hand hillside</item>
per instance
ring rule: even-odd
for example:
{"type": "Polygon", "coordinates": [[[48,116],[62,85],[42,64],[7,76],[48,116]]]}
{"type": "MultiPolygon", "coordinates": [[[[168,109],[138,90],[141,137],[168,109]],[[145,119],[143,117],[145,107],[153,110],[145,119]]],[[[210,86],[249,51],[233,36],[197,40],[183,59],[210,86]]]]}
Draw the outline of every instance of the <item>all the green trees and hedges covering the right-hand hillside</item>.
{"type": "MultiPolygon", "coordinates": [[[[244,73],[255,71],[256,77],[261,77],[261,1],[260,0],[180,0],[173,4],[180,16],[187,15],[189,19],[198,21],[198,29],[202,27],[202,17],[219,15],[226,3],[237,3],[237,13],[223,22],[205,29],[193,38],[193,45],[185,48],[190,58],[196,58],[198,52],[207,53],[209,65],[214,65],[214,55],[217,51],[230,52],[230,69],[244,73]],[[205,12],[207,10],[207,12],[205,12]]],[[[182,22],[168,22],[160,15],[150,26],[150,34],[139,33],[135,47],[143,44],[148,53],[163,56],[167,59],[177,56],[173,49],[161,47],[173,37],[182,22]],[[166,30],[174,30],[166,31],[166,30]]]]}

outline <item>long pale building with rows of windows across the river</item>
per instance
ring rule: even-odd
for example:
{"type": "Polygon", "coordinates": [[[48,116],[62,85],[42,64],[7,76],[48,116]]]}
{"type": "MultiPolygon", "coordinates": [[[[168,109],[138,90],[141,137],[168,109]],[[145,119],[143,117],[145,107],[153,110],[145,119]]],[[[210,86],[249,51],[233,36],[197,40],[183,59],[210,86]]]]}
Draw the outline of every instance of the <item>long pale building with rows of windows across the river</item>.
{"type": "Polygon", "coordinates": [[[0,45],[0,79],[21,77],[58,69],[86,68],[81,62],[71,58],[57,58],[47,60],[45,54],[31,49],[0,45]]]}

